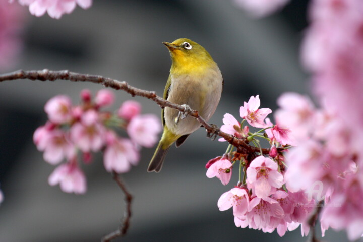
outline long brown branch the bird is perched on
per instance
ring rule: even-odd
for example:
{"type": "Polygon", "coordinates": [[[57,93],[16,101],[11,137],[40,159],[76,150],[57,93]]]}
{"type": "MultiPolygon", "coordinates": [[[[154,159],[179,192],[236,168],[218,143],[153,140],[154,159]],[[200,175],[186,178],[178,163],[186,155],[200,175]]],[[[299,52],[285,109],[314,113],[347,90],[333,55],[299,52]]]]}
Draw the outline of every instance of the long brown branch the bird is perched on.
{"type": "MultiPolygon", "coordinates": [[[[17,79],[30,79],[30,80],[39,80],[39,81],[55,81],[55,80],[70,80],[73,82],[92,82],[102,84],[105,87],[110,87],[116,90],[124,90],[129,93],[131,96],[141,96],[146,97],[150,100],[156,102],[160,107],[170,107],[181,112],[187,112],[186,108],[177,105],[175,103],[171,103],[159,96],[156,95],[155,92],[142,90],[139,88],[135,88],[130,86],[127,82],[118,81],[111,78],[106,78],[98,75],[88,75],[88,74],[80,74],[75,72],[70,72],[68,70],[62,71],[50,71],[48,69],[39,70],[39,71],[23,71],[18,70],[11,73],[6,73],[0,75],[0,82],[2,81],[11,81],[17,79]]],[[[192,110],[187,112],[188,115],[194,117],[201,123],[201,125],[207,130],[208,134],[215,134],[220,137],[223,137],[228,143],[232,144],[237,148],[238,152],[241,153],[254,153],[260,152],[258,147],[254,147],[249,145],[246,138],[236,138],[230,134],[224,133],[219,130],[215,125],[208,124],[204,118],[198,115],[198,111],[192,110]]],[[[282,151],[282,150],[279,150],[282,151]]],[[[268,154],[270,149],[262,149],[263,154],[268,154]]]]}

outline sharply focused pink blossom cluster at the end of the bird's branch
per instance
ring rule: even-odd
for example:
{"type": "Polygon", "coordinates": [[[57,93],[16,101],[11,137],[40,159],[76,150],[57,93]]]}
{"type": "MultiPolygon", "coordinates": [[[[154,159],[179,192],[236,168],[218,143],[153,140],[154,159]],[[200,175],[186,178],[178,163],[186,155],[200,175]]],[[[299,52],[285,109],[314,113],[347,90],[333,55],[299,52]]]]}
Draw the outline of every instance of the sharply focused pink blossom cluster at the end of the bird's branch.
{"type": "MultiPolygon", "coordinates": [[[[288,106],[288,101],[281,99],[280,104],[288,106]]],[[[224,115],[221,131],[255,144],[260,148],[260,153],[234,151],[234,147],[229,145],[224,155],[208,161],[207,177],[217,177],[223,185],[229,183],[233,165],[239,163],[237,186],[221,195],[218,200],[219,210],[233,207],[237,227],[269,233],[276,229],[283,236],[287,230],[294,230],[301,225],[302,235],[307,235],[310,229],[307,219],[316,202],[308,198],[303,190],[290,191],[286,186],[288,169],[284,163],[284,152],[295,143],[293,131],[280,122],[285,113],[280,111],[275,116],[274,125],[266,118],[272,112],[271,109],[259,107],[259,96],[252,96],[249,102],[240,107],[240,123],[231,114],[224,115]],[[245,122],[261,130],[251,133],[250,127],[244,126],[245,122]],[[271,145],[268,155],[263,155],[259,139],[266,139],[271,145]]]]}

